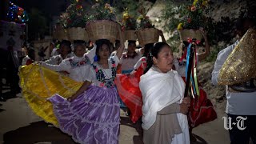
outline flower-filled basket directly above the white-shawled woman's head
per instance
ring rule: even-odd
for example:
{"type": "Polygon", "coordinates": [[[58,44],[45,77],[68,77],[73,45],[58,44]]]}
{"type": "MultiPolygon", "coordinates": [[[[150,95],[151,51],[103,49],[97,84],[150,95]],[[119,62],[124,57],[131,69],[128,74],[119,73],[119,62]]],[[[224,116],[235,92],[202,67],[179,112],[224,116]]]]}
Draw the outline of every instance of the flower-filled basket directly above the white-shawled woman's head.
{"type": "Polygon", "coordinates": [[[138,10],[138,12],[141,14],[138,17],[138,30],[136,30],[139,44],[141,46],[145,46],[148,43],[158,42],[158,30],[154,28],[150,18],[146,16],[145,8],[142,7],[140,10],[138,10]]]}

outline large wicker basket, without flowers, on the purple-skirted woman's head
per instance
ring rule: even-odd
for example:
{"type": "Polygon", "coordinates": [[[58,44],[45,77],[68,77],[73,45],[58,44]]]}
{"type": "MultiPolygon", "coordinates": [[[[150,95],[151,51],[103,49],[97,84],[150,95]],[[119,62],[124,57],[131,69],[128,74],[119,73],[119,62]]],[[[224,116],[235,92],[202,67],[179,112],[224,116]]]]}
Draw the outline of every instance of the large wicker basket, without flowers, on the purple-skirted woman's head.
{"type": "Polygon", "coordinates": [[[118,23],[108,20],[89,22],[86,25],[86,30],[90,40],[94,42],[98,39],[108,39],[110,42],[114,42],[118,35],[118,23]]]}

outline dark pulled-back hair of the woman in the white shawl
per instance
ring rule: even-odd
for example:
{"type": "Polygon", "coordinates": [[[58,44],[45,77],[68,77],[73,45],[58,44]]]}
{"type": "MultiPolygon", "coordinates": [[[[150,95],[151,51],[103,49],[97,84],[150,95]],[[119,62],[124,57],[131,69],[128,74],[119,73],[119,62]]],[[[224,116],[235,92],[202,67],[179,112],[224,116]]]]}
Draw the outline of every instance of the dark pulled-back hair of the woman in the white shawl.
{"type": "Polygon", "coordinates": [[[152,47],[152,49],[150,50],[150,53],[146,58],[146,69],[144,70],[144,74],[146,74],[146,72],[150,70],[150,68],[153,66],[153,57],[158,58],[158,53],[162,50],[164,46],[169,46],[169,45],[166,42],[154,43],[154,46],[152,47]]]}

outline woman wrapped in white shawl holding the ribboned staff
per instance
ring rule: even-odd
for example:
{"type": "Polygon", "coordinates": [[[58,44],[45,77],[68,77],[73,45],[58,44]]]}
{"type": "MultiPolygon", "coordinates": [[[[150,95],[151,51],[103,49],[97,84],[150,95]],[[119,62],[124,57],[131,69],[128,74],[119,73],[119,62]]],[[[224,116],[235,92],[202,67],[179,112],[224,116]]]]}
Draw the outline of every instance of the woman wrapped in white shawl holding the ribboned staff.
{"type": "Polygon", "coordinates": [[[183,98],[185,83],[172,70],[173,54],[165,42],[154,44],[147,58],[142,91],[142,128],[145,144],[189,144],[186,113],[190,98],[183,98]]]}

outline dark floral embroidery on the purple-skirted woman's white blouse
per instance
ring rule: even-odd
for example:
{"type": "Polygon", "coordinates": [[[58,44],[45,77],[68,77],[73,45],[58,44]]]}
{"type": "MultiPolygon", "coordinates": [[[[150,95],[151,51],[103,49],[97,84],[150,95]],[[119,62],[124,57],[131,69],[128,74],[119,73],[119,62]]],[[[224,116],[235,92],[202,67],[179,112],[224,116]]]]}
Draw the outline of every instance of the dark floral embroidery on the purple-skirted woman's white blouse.
{"type": "Polygon", "coordinates": [[[99,84],[99,86],[102,87],[113,87],[114,86],[114,78],[117,74],[117,70],[116,70],[116,66],[115,66],[115,62],[113,60],[113,58],[110,58],[110,70],[111,70],[111,78],[106,78],[106,75],[104,74],[103,70],[98,70],[98,67],[95,65],[92,65],[95,72],[96,72],[96,78],[99,82],[101,82],[99,84]]]}

